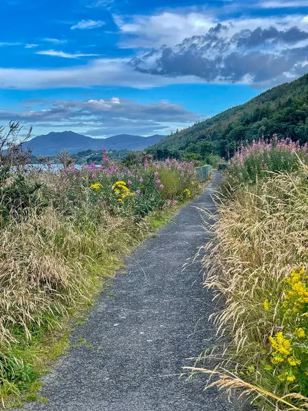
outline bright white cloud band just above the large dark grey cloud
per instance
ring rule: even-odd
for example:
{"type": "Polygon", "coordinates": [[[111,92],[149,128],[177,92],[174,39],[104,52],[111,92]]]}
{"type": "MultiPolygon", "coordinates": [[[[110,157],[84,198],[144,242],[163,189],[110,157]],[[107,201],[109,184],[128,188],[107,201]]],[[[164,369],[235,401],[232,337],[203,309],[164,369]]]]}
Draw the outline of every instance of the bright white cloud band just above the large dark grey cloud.
{"type": "MultiPolygon", "coordinates": [[[[303,0],[302,0],[303,1],[303,0]]],[[[285,16],[217,18],[208,12],[162,12],[151,16],[116,16],[114,22],[120,30],[119,46],[123,48],[157,48],[162,45],[175,46],[185,38],[203,36],[218,23],[227,25],[229,34],[241,29],[257,27],[290,28],[294,25],[307,29],[306,15],[289,14],[285,16]]]]}

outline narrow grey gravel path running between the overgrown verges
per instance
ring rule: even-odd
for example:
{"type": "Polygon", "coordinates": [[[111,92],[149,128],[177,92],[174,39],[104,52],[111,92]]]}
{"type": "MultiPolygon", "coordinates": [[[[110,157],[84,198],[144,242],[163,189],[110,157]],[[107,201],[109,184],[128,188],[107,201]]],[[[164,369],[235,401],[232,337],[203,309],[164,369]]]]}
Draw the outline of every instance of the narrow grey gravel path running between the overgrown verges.
{"type": "Polygon", "coordinates": [[[46,411],[233,411],[224,395],[203,391],[204,377],[179,379],[214,330],[206,314],[211,295],[202,288],[200,265],[181,271],[205,242],[201,217],[192,207],[214,208],[214,180],[194,203],[126,259],[126,273],[113,280],[90,318],[77,327],[71,349],[44,377],[40,395],[49,403],[27,403],[46,411]]]}

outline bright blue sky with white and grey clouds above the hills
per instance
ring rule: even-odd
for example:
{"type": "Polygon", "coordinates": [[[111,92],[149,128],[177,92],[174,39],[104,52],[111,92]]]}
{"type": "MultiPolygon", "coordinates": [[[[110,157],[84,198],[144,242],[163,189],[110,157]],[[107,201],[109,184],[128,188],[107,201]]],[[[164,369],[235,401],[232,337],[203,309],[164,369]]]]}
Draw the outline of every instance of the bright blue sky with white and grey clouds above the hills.
{"type": "Polygon", "coordinates": [[[308,71],[308,0],[1,0],[0,124],[168,134],[308,71]]]}

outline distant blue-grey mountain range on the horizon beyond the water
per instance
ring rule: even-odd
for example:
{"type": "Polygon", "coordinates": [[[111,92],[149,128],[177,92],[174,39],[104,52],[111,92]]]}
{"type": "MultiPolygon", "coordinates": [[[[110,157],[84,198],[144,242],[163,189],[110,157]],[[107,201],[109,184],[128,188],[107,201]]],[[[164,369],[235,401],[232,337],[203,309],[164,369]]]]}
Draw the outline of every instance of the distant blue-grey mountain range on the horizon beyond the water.
{"type": "Polygon", "coordinates": [[[66,149],[70,153],[84,150],[142,150],[164,138],[159,134],[142,137],[130,134],[119,134],[108,138],[91,138],[74,132],[50,132],[49,134],[36,136],[25,143],[34,155],[55,155],[57,151],[66,149]]]}

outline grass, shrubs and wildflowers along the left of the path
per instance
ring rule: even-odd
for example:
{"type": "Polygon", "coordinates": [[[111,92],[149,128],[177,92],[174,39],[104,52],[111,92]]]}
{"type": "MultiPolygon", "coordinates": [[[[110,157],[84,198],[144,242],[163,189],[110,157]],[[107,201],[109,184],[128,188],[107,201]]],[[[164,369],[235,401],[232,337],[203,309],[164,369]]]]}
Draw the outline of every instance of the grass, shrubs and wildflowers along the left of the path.
{"type": "MultiPolygon", "coordinates": [[[[0,133],[0,399],[37,398],[37,377],[68,348],[67,319],[90,306],[121,257],[201,185],[194,164],[32,167],[18,125],[0,133]]],[[[69,323],[68,323],[69,324],[69,323]]],[[[41,399],[44,401],[44,399],[41,399]]]]}

